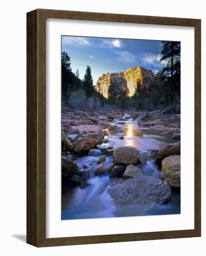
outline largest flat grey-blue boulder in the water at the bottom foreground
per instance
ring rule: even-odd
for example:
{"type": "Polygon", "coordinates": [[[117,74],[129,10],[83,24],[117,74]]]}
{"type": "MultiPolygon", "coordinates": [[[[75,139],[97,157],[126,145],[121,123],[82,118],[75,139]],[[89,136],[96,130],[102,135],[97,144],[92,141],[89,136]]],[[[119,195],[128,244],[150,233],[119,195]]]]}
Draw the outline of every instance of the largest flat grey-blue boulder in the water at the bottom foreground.
{"type": "Polygon", "coordinates": [[[151,209],[154,205],[169,201],[172,195],[166,181],[143,175],[137,179],[114,179],[108,193],[119,209],[133,208],[134,211],[140,206],[151,209]]]}

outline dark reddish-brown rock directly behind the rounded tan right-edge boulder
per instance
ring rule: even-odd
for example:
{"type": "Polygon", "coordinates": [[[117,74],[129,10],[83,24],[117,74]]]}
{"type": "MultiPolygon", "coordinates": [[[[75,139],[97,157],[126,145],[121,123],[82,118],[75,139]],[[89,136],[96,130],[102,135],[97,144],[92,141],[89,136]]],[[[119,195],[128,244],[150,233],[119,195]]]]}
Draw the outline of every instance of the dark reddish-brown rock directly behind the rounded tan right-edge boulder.
{"type": "Polygon", "coordinates": [[[169,155],[180,155],[180,141],[164,145],[157,153],[155,163],[160,165],[162,160],[169,155]]]}

